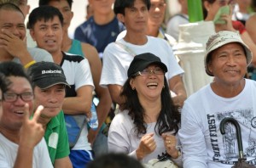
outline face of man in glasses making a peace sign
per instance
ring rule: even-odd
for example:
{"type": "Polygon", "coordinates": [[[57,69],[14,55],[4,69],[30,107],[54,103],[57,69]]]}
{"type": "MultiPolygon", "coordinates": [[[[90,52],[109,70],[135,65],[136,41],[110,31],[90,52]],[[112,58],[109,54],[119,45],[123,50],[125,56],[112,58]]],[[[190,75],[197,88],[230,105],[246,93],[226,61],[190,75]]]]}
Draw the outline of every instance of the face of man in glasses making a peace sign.
{"type": "MultiPolygon", "coordinates": [[[[32,92],[29,81],[24,77],[8,77],[12,84],[9,86],[8,93],[20,94],[23,92],[32,92]]],[[[7,130],[19,131],[24,120],[25,104],[29,105],[29,112],[32,114],[33,102],[23,101],[20,97],[15,102],[6,102],[3,100],[3,115],[0,119],[0,127],[7,130]]]]}

